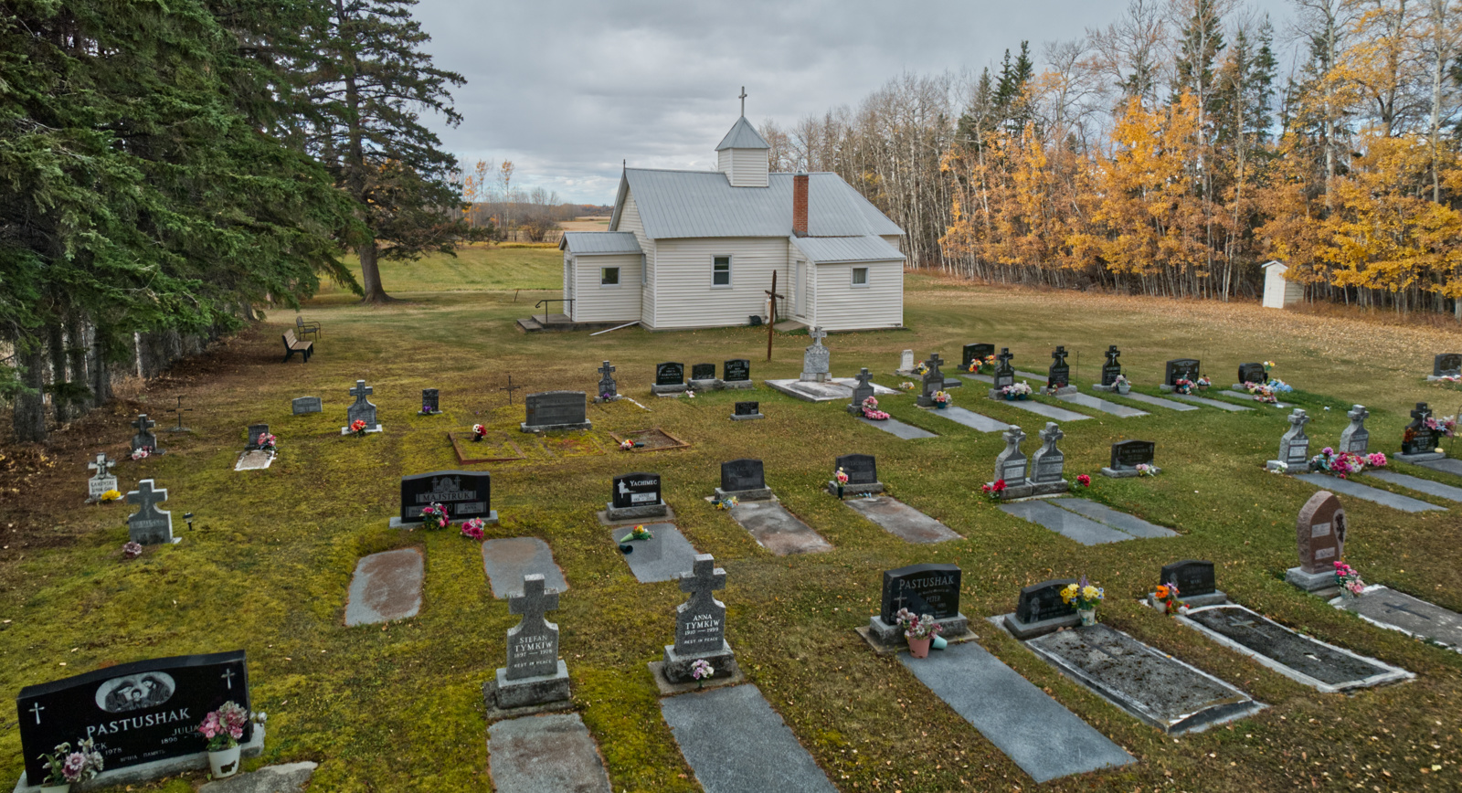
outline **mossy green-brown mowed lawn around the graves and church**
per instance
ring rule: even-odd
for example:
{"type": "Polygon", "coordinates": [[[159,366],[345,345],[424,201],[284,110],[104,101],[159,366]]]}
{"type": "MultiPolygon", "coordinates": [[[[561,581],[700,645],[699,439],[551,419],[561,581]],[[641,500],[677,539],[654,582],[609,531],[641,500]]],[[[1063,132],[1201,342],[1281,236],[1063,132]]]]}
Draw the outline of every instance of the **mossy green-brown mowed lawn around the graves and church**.
{"type": "MultiPolygon", "coordinates": [[[[481,685],[503,664],[504,632],[518,617],[493,598],[478,543],[455,530],[387,528],[399,509],[399,477],[462,467],[446,432],[480,421],[531,452],[522,462],[471,468],[493,473],[501,522],[488,537],[539,537],[563,568],[569,590],[550,619],[561,631],[576,708],[616,790],[697,789],[645,667],[673,642],[674,609],[684,595],[674,582],[639,584],[594,516],[608,500],[610,478],[627,471],[661,473],[683,534],[727,569],[719,597],[743,670],[841,790],[1035,787],[896,660],[876,657],[855,635],[877,610],[883,571],[918,562],[961,565],[961,606],[980,644],[1139,761],[1042,790],[1462,787],[1462,655],[1370,626],[1284,582],[1285,568],[1297,562],[1295,515],[1316,490],[1263,470],[1288,411],[1151,408],[1148,417],[1094,414],[1064,424],[1072,480],[1096,474],[1114,440],[1156,442],[1162,476],[1095,476],[1082,495],[1180,533],[1085,547],[987,503],[980,484],[991,478],[1003,448],[999,435],[921,411],[911,395],[882,407],[940,437],[899,440],[854,421],[839,404],[800,402],[765,386],[693,401],[649,395],[654,364],[664,360],[719,366],[747,357],[756,380],[797,376],[803,334],[778,334],[770,363],[765,328],[519,334],[516,317],[535,300],[557,297],[560,268],[553,249],[484,247],[458,259],[387,263],[386,288],[405,301],[364,307],[332,290],[306,306],[306,319],[325,325],[308,364],[279,363],[279,332],[294,317],[272,313],[205,360],[181,364],[136,402],[60,433],[44,456],[6,449],[31,468],[28,478],[13,476],[16,492],[0,505],[9,538],[0,550],[0,695],[105,664],[244,648],[254,705],[270,715],[265,756],[246,767],[317,761],[313,790],[490,790],[481,685]],[[538,291],[515,300],[518,288],[538,291]],[[649,410],[629,401],[591,405],[589,435],[602,454],[554,451],[518,432],[523,391],[509,404],[509,376],[526,391],[592,392],[605,358],[618,367],[620,392],[649,410]],[[374,386],[382,435],[339,436],[346,389],[357,379],[374,386]],[[423,388],[442,389],[444,416],[415,416],[423,388]],[[165,506],[184,541],[126,562],[120,546],[129,508],[80,505],[85,462],[102,449],[120,458],[130,411],[161,414],[178,395],[194,408],[187,417],[194,432],[164,435],[165,456],[123,462],[117,473],[124,489],[146,477],[168,489],[165,506]],[[325,413],[291,416],[289,399],[303,395],[322,396],[325,413]],[[746,398],[762,401],[765,421],[727,418],[731,404],[746,398]],[[281,456],[268,471],[234,473],[246,426],[254,421],[270,424],[281,456]],[[608,435],[656,426],[692,446],[626,454],[608,435]],[[877,455],[893,496],[965,538],[909,544],[822,493],[833,456],[851,452],[877,455]],[[719,462],[738,456],[762,458],[782,503],[835,550],[776,557],[713,511],[703,497],[719,481],[719,462]],[[196,515],[193,531],[183,512],[196,515]],[[411,546],[425,552],[421,615],[344,628],[357,560],[411,546]],[[1140,607],[1158,569],[1178,559],[1213,560],[1219,588],[1234,601],[1417,679],[1354,695],[1317,694],[1140,607]],[[982,622],[1010,612],[1023,585],[1080,574],[1107,590],[1102,622],[1269,707],[1230,726],[1167,737],[982,622]]],[[[1399,446],[1414,402],[1428,401],[1439,414],[1462,402],[1462,392],[1423,380],[1434,353],[1462,347],[1446,328],[1253,304],[978,287],[928,275],[908,278],[905,303],[906,331],[826,339],[835,375],[867,366],[877,382],[895,386],[890,372],[901,350],[958,361],[959,345],[977,341],[1010,347],[1018,369],[1044,372],[1051,348],[1064,344],[1073,364],[1080,354],[1076,382],[1086,389],[1101,351],[1117,344],[1139,391],[1158,394],[1168,358],[1202,358],[1219,386],[1232,382],[1241,361],[1273,360],[1275,375],[1300,389],[1291,401],[1313,416],[1314,451],[1338,439],[1352,402],[1370,408],[1371,449],[1387,454],[1399,446]]],[[[1045,421],[984,399],[982,383],[958,389],[955,402],[1020,424],[1032,439],[1045,421]]],[[[1028,454],[1034,448],[1026,442],[1028,454]]],[[[1395,468],[1447,480],[1425,468],[1395,468]]],[[[1351,518],[1347,557],[1367,581],[1462,610],[1462,506],[1437,502],[1449,509],[1408,515],[1344,502],[1351,518]]],[[[0,768],[18,777],[16,721],[3,723],[0,768]]],[[[199,781],[193,775],[135,790],[181,792],[199,781]]]]}

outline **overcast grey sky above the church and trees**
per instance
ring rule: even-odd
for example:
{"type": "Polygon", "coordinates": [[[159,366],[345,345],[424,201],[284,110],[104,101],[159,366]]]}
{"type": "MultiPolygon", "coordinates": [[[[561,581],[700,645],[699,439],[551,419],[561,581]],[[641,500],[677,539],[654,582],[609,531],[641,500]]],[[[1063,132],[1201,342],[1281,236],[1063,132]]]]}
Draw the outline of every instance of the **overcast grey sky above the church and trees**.
{"type": "MultiPolygon", "coordinates": [[[[1288,50],[1284,0],[1270,13],[1288,50]]],[[[1022,40],[1105,28],[1124,0],[421,0],[437,66],[466,76],[463,116],[434,124],[465,159],[512,159],[513,181],[563,200],[611,203],[620,162],[715,168],[740,114],[791,126],[855,107],[902,72],[997,64],[1022,40]]]]}

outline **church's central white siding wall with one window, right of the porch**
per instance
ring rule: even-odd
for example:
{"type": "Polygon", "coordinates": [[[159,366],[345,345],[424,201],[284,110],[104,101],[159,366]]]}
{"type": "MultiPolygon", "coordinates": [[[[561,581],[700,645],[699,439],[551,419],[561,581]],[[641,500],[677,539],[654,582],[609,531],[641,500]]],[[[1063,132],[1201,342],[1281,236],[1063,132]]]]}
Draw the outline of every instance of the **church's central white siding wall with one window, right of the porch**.
{"type": "MultiPolygon", "coordinates": [[[[711,237],[659,240],[655,256],[652,328],[746,325],[765,313],[772,271],[787,266],[787,240],[778,237],[711,237]],[[712,287],[713,256],[731,256],[731,285],[712,287]]],[[[778,275],[778,291],[785,274],[778,275]]],[[[784,293],[785,294],[785,293],[784,293]]]]}

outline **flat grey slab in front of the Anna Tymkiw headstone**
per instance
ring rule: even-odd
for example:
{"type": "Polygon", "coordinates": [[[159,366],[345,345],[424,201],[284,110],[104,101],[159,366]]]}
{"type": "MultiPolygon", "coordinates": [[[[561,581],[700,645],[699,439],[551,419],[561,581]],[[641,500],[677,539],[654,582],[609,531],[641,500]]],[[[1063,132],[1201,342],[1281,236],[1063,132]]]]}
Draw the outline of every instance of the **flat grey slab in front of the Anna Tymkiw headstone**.
{"type": "Polygon", "coordinates": [[[659,711],[706,793],[838,790],[751,683],[668,696],[659,711]]]}

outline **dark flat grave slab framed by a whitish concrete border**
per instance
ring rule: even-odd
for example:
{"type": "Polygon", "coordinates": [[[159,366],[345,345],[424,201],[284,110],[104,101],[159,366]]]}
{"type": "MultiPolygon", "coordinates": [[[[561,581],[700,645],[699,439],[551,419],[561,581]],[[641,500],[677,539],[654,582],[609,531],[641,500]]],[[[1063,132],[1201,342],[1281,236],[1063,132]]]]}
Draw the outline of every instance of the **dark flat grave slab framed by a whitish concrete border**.
{"type": "Polygon", "coordinates": [[[1178,616],[1211,639],[1325,694],[1415,677],[1390,664],[1301,636],[1243,606],[1202,606],[1178,616]]]}

